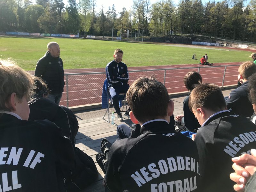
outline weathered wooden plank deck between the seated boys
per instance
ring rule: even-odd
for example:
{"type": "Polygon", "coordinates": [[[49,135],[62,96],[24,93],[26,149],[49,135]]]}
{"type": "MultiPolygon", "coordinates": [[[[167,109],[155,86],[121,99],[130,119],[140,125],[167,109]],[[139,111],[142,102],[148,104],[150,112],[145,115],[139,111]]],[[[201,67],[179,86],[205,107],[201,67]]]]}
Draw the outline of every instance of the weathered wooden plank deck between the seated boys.
{"type": "MultiPolygon", "coordinates": [[[[80,148],[87,155],[91,156],[97,169],[98,178],[92,185],[88,186],[82,192],[104,192],[105,188],[102,186],[104,173],[97,164],[95,155],[101,153],[100,143],[103,138],[107,138],[111,143],[117,139],[116,128],[119,124],[127,124],[131,127],[132,121],[128,117],[123,116],[126,120],[123,122],[115,121],[116,124],[108,123],[102,117],[82,120],[79,122],[79,130],[76,135],[76,147],[80,148]]],[[[111,119],[110,119],[111,120],[111,119]]]]}

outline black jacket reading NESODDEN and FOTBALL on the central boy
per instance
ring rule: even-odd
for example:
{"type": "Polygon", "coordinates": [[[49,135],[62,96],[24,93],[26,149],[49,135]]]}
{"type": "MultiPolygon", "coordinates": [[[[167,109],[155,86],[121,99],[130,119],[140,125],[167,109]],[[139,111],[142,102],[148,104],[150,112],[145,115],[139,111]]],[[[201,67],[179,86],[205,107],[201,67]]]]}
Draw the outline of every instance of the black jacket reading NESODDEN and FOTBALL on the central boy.
{"type": "Polygon", "coordinates": [[[110,192],[199,191],[198,160],[194,141],[156,120],[113,143],[104,182],[110,192]]]}

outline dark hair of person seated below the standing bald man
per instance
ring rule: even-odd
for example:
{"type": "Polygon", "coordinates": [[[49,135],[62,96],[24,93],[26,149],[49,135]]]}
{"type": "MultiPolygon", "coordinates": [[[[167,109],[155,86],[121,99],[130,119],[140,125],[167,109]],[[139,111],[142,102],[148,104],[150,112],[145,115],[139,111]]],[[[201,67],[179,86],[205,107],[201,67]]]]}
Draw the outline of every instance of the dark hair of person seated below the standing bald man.
{"type": "Polygon", "coordinates": [[[33,76],[35,87],[33,98],[43,97],[44,95],[49,95],[48,86],[44,80],[40,77],[33,76]]]}

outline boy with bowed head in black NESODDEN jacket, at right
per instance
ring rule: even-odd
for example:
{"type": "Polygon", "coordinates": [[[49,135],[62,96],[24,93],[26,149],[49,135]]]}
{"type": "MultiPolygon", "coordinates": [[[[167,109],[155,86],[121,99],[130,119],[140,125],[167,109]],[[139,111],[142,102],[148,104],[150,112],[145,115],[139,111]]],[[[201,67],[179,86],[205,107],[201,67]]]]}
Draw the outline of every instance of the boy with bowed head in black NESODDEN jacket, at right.
{"type": "Polygon", "coordinates": [[[229,179],[233,172],[231,158],[249,154],[255,148],[256,125],[227,110],[219,86],[203,83],[195,86],[189,97],[189,108],[202,126],[195,137],[201,190],[233,191],[234,183],[229,179]]]}

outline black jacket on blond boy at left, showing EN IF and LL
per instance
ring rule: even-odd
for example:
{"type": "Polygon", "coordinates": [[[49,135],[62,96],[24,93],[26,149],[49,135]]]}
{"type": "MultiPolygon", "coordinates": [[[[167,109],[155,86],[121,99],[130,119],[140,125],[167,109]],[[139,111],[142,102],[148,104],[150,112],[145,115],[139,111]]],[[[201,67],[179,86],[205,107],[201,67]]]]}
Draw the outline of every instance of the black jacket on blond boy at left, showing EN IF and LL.
{"type": "Polygon", "coordinates": [[[69,139],[48,120],[0,116],[0,184],[3,191],[66,191],[62,170],[74,166],[69,139]]]}

